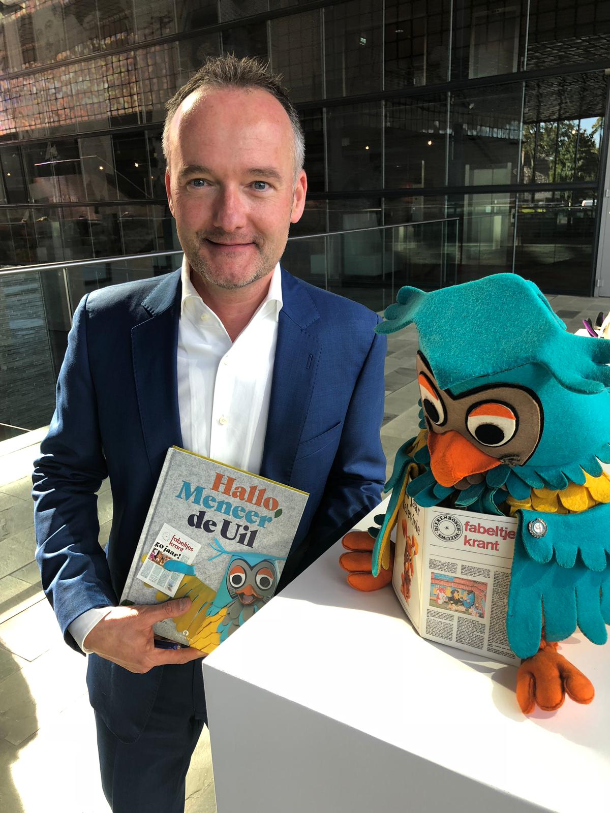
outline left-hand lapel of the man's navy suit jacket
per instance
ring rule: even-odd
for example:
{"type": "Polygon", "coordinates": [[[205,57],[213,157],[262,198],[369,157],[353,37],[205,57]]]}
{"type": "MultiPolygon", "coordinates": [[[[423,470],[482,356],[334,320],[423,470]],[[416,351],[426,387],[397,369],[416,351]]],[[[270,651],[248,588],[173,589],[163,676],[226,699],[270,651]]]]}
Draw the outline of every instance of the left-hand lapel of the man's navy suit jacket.
{"type": "Polygon", "coordinates": [[[178,410],[177,346],[180,270],[159,282],[142,302],[132,328],[133,375],[150,470],[159,475],[169,446],[182,445],[178,410]]]}

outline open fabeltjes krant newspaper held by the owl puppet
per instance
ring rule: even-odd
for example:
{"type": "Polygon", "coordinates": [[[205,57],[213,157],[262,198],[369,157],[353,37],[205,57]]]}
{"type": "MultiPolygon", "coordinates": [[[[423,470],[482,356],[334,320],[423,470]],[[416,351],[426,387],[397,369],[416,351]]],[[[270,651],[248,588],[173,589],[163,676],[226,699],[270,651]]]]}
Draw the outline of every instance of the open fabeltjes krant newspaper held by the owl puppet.
{"type": "Polygon", "coordinates": [[[422,637],[520,663],[506,635],[516,527],[512,517],[421,508],[405,496],[392,584],[422,637]]]}

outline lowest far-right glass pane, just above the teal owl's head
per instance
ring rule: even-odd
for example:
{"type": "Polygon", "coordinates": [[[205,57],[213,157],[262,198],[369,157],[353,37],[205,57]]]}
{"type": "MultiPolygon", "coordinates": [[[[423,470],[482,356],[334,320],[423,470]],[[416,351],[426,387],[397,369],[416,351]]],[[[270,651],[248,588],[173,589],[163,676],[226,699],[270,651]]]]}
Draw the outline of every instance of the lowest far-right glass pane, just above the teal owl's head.
{"type": "Polygon", "coordinates": [[[518,197],[516,272],[548,293],[590,296],[596,190],[518,197]]]}

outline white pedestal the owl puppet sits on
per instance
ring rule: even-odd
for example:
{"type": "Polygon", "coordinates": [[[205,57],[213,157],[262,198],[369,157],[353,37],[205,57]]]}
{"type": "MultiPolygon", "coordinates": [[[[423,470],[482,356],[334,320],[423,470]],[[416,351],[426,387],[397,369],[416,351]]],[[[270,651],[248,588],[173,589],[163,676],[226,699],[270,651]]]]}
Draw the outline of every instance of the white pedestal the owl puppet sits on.
{"type": "Polygon", "coordinates": [[[346,584],[341,551],[204,661],[219,813],[608,809],[610,646],[561,646],[590,706],[525,717],[515,667],[420,638],[390,587],[346,584]]]}

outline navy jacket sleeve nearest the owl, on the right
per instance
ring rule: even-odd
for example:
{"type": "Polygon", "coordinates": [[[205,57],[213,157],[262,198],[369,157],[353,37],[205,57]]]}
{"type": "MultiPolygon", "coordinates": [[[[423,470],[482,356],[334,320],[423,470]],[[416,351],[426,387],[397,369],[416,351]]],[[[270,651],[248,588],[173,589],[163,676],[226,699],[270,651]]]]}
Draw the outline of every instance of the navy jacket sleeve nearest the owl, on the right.
{"type": "Polygon", "coordinates": [[[386,457],[380,436],[386,350],[386,337],[373,333],[346,411],[325,491],[302,548],[298,572],[303,572],[381,502],[381,489],[386,481],[386,457]]]}

